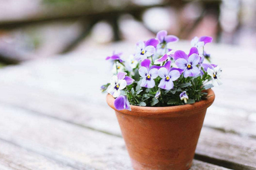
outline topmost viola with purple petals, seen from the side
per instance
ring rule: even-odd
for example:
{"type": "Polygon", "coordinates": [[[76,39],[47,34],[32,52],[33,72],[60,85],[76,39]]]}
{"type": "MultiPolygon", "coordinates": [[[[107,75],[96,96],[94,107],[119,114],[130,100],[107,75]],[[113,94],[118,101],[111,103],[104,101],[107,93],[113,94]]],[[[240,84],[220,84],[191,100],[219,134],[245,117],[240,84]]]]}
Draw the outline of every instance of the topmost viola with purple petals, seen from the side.
{"type": "Polygon", "coordinates": [[[169,52],[168,48],[166,47],[167,43],[169,42],[177,42],[179,40],[178,37],[174,35],[167,35],[167,31],[162,30],[157,33],[157,39],[160,43],[157,45],[157,54],[163,55],[166,52],[169,52]],[[168,51],[166,51],[168,50],[168,51]]]}

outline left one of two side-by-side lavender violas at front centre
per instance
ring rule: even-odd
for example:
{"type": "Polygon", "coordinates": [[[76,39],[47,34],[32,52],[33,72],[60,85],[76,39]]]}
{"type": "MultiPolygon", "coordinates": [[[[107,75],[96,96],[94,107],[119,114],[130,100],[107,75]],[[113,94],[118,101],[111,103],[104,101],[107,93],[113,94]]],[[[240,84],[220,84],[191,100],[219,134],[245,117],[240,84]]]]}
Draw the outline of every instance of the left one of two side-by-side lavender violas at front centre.
{"type": "Polygon", "coordinates": [[[139,74],[143,77],[140,84],[141,87],[153,88],[155,86],[154,79],[157,78],[157,68],[149,68],[150,60],[144,59],[141,62],[141,68],[139,68],[139,74]]]}

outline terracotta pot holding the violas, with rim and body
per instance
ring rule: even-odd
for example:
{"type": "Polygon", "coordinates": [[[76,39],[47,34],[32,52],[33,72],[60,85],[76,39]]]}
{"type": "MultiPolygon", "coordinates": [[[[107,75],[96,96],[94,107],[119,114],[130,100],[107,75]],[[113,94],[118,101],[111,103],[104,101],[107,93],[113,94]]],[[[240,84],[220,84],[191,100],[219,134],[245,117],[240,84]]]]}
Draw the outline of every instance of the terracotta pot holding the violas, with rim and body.
{"type": "Polygon", "coordinates": [[[108,94],[108,105],[116,112],[126,148],[135,170],[188,170],[207,108],[215,95],[192,105],[170,107],[132,106],[117,111],[108,94]]]}

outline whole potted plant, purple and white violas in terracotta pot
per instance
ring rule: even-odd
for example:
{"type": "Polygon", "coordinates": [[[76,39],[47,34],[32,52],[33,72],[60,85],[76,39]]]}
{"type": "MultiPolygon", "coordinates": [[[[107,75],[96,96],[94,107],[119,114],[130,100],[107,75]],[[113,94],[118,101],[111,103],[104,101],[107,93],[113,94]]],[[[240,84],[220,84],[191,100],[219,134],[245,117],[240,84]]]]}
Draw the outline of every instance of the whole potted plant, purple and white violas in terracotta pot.
{"type": "Polygon", "coordinates": [[[212,37],[195,37],[188,54],[169,48],[178,40],[160,31],[137,42],[128,59],[116,53],[106,58],[114,75],[101,89],[108,92],[135,170],[189,169],[215,98],[210,88],[222,84],[221,69],[204,51],[212,37]]]}

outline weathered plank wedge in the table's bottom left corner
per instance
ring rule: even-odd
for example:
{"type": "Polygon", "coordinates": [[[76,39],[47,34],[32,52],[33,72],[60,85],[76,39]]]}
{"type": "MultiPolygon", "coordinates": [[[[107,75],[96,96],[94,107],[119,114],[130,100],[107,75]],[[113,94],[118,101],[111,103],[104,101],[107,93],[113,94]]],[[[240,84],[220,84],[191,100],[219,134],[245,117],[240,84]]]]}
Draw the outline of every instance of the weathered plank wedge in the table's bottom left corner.
{"type": "Polygon", "coordinates": [[[0,140],[1,170],[75,170],[72,167],[0,140]]]}

